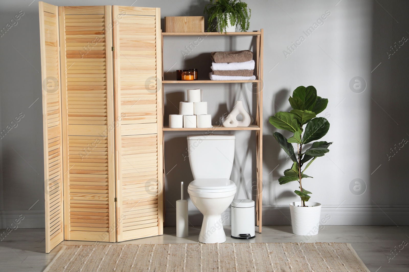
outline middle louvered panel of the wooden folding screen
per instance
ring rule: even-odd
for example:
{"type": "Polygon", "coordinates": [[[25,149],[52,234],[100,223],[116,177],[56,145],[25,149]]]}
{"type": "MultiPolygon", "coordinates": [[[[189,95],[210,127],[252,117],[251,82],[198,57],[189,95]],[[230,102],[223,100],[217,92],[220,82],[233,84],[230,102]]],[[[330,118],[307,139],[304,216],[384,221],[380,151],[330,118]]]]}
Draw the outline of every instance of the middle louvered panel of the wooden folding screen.
{"type": "Polygon", "coordinates": [[[65,239],[115,241],[111,6],[60,7],[65,239]]]}

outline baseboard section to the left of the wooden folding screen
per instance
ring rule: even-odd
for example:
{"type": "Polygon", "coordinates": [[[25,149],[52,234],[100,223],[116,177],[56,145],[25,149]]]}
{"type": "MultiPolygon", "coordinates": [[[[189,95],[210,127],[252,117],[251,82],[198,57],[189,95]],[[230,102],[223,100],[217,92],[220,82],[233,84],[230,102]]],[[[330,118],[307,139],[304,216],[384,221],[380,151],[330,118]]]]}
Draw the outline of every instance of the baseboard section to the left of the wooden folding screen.
{"type": "Polygon", "coordinates": [[[16,228],[16,222],[19,222],[17,228],[45,228],[44,212],[44,210],[0,210],[0,228],[16,228]],[[11,225],[13,223],[14,225],[11,225]]]}

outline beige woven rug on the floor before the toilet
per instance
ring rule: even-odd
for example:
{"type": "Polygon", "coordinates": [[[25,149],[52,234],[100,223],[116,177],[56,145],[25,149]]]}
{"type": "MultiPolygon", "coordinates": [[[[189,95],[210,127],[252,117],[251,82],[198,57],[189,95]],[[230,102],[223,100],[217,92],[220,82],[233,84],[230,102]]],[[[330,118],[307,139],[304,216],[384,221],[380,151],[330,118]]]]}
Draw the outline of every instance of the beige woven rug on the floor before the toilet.
{"type": "Polygon", "coordinates": [[[67,245],[45,272],[369,272],[348,243],[67,245]]]}

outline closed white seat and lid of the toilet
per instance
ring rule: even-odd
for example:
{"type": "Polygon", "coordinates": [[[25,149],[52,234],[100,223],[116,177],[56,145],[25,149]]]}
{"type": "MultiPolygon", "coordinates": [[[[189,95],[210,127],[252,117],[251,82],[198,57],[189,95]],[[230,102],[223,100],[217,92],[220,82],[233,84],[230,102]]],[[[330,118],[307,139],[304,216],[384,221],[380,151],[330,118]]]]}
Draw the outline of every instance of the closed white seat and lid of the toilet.
{"type": "Polygon", "coordinates": [[[188,189],[191,192],[231,192],[236,190],[236,184],[230,179],[195,179],[188,189]]]}

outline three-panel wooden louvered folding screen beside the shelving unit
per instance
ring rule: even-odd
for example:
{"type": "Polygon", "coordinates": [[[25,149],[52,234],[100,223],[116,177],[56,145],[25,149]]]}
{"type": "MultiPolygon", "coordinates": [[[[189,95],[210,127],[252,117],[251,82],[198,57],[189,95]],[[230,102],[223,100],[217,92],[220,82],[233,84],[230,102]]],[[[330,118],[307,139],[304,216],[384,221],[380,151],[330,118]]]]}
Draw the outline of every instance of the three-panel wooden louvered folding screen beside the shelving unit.
{"type": "Polygon", "coordinates": [[[46,252],[162,234],[160,9],[39,9],[46,252]]]}

